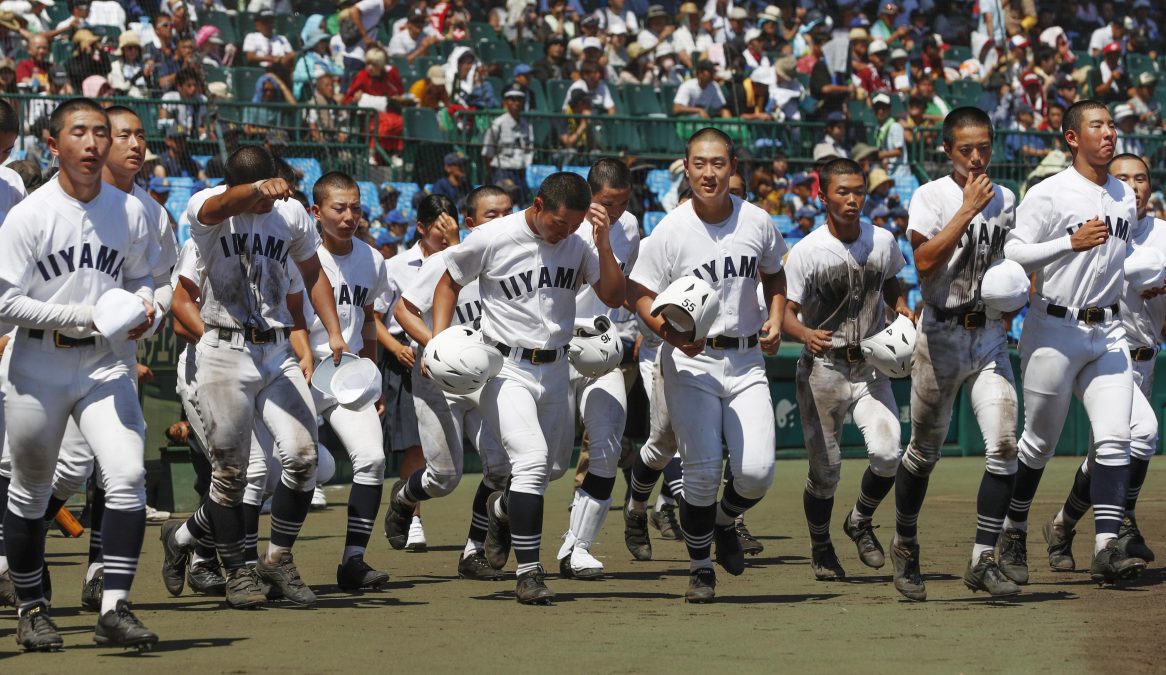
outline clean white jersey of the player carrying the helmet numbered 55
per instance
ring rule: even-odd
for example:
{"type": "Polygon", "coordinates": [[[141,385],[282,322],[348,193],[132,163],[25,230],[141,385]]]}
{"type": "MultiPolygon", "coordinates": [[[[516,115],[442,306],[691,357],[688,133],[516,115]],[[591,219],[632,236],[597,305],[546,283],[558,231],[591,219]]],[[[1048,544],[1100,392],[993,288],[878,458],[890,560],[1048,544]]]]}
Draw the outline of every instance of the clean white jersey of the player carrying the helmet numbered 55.
{"type": "Polygon", "coordinates": [[[768,312],[757,302],[758,273],[777,274],[786,241],[761,209],[732,197],[723,223],[703,223],[686,202],[652,231],[632,281],[656,293],[681,276],[697,276],[717,289],[721,312],[709,336],[757,335],[768,312]]]}

